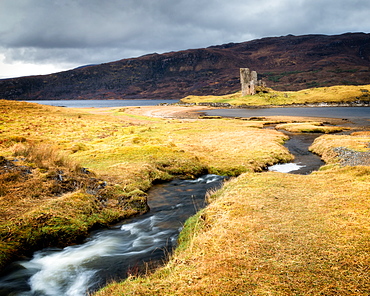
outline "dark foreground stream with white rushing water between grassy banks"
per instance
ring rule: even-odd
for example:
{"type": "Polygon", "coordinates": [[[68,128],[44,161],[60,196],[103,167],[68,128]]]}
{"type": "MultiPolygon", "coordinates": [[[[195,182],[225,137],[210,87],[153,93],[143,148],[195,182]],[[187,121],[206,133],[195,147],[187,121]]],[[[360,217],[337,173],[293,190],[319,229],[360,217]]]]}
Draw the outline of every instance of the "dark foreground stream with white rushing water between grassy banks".
{"type": "Polygon", "coordinates": [[[150,212],[93,234],[84,244],[36,252],[0,278],[0,295],[81,296],[162,261],[187,218],[205,206],[207,190],[224,177],[175,180],[149,191],[150,212]]]}

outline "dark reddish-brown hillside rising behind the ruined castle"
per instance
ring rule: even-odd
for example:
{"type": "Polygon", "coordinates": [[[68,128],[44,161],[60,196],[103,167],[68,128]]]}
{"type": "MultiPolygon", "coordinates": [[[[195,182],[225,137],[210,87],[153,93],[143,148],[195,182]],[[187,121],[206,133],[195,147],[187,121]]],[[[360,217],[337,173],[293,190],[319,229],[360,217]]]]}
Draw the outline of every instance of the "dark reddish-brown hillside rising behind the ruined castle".
{"type": "Polygon", "coordinates": [[[263,38],[0,81],[0,98],[181,99],[240,89],[239,68],[276,90],[370,83],[370,34],[263,38]]]}

